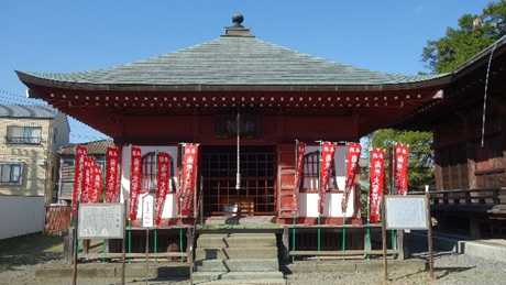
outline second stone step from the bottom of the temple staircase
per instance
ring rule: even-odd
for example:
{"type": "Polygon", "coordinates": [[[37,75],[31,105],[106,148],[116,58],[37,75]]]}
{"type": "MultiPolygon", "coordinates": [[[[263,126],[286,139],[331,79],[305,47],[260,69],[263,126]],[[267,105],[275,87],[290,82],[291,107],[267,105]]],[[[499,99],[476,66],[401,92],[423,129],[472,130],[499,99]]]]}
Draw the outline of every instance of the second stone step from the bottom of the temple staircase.
{"type": "Polygon", "coordinates": [[[197,272],[271,272],[279,271],[277,259],[202,260],[196,262],[197,272]]]}

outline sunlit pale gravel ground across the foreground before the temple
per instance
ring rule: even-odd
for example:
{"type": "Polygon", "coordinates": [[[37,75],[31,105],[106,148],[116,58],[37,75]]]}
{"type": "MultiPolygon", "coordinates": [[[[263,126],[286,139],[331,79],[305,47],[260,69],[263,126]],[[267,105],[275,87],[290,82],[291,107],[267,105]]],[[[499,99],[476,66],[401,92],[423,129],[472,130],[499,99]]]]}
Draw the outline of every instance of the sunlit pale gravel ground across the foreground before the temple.
{"type": "MultiPolygon", "coordinates": [[[[424,256],[419,256],[422,259],[424,256]]],[[[51,261],[58,265],[59,261],[51,261]]],[[[307,263],[311,263],[308,261],[307,263]]],[[[69,284],[70,279],[36,279],[34,272],[42,266],[20,265],[15,268],[0,273],[0,284],[69,284]]],[[[494,263],[486,260],[458,254],[440,254],[436,259],[436,276],[433,284],[506,284],[506,263],[494,263]]],[[[389,273],[389,284],[429,284],[427,272],[395,271],[389,273]]],[[[382,271],[371,273],[341,273],[341,272],[314,272],[287,275],[290,285],[323,285],[323,284],[378,284],[382,279],[382,271]]],[[[81,278],[79,284],[118,284],[118,279],[107,278],[81,278]]],[[[144,281],[129,279],[129,284],[189,284],[187,279],[176,281],[144,281]]]]}

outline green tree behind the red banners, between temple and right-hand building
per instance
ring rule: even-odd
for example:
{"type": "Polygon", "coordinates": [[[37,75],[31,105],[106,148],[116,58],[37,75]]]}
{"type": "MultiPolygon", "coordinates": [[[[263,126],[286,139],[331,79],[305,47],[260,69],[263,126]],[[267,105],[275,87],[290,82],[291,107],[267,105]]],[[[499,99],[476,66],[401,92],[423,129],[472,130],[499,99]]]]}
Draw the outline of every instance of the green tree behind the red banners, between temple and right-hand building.
{"type": "Polygon", "coordinates": [[[383,129],[372,134],[370,143],[389,151],[395,142],[409,144],[409,188],[421,190],[424,185],[433,185],[432,133],[383,129]]]}

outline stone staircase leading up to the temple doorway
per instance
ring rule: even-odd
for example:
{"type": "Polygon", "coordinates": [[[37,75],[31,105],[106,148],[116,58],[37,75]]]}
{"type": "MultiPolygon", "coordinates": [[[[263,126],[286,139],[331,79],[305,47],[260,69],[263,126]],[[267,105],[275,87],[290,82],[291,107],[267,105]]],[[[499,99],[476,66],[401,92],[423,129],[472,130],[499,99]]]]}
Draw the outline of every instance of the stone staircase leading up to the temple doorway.
{"type": "Polygon", "coordinates": [[[204,233],[195,254],[195,284],[286,284],[274,233],[204,233]]]}

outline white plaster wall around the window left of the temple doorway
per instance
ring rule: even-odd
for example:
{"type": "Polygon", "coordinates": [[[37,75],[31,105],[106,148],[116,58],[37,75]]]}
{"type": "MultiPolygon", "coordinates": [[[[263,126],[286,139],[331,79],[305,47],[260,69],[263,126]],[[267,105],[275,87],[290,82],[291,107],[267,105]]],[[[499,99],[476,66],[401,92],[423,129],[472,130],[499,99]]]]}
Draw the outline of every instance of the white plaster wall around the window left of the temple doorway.
{"type": "MultiPolygon", "coordinates": [[[[121,201],[127,200],[127,204],[129,205],[130,202],[130,161],[131,161],[131,153],[132,153],[132,146],[131,145],[124,145],[122,149],[122,154],[121,154],[121,201]],[[123,197],[127,197],[127,199],[123,199],[123,197]]],[[[176,145],[155,145],[155,146],[145,146],[141,145],[141,155],[147,154],[150,152],[166,152],[168,153],[173,160],[174,160],[174,167],[175,169],[172,169],[173,177],[170,178],[174,183],[177,185],[177,146],[176,145]]],[[[170,187],[172,187],[170,183],[170,187]]],[[[139,202],[138,202],[138,219],[142,218],[142,199],[144,196],[148,194],[141,194],[139,197],[139,202]]],[[[168,218],[175,218],[176,217],[176,204],[175,204],[175,195],[174,194],[167,194],[165,197],[165,202],[164,202],[164,209],[162,211],[162,218],[163,219],[168,219],[168,218]]],[[[130,207],[130,205],[129,205],[130,207]]]]}

